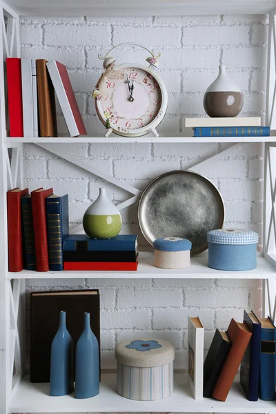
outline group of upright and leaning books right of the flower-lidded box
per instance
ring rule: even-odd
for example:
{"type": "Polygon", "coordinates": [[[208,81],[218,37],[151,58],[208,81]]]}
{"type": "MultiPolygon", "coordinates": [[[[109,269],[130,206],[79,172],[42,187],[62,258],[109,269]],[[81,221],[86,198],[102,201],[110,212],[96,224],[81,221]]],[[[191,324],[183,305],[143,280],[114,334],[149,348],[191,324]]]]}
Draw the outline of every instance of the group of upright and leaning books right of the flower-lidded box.
{"type": "Polygon", "coordinates": [[[188,378],[196,400],[226,401],[239,366],[240,384],[249,401],[275,400],[276,328],[270,317],[244,311],[242,323],[232,319],[226,332],[217,329],[204,364],[204,326],[193,317],[188,328],[188,378]]]}

